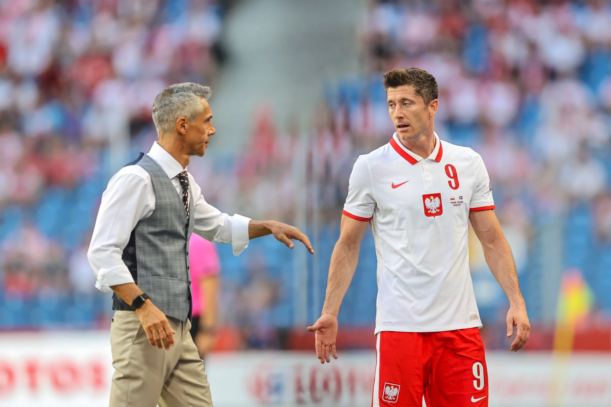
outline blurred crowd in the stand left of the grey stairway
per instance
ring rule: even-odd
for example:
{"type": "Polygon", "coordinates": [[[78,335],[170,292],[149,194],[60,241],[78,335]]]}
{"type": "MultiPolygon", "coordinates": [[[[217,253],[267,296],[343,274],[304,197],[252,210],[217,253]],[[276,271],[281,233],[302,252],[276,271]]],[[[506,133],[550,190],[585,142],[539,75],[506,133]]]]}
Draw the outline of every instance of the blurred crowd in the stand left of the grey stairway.
{"type": "MultiPolygon", "coordinates": [[[[167,84],[213,83],[223,20],[213,0],[0,2],[0,300],[9,308],[13,297],[95,292],[86,248],[108,152],[155,134],[152,101],[167,84]]],[[[0,301],[0,325],[10,325],[4,311],[0,301]]]]}

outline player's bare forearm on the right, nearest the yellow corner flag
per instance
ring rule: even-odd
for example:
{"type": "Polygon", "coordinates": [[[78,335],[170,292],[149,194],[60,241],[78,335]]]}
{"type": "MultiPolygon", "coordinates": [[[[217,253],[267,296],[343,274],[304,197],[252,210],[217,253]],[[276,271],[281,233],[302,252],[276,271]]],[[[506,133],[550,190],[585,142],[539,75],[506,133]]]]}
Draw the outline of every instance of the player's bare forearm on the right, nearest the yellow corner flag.
{"type": "Polygon", "coordinates": [[[518,282],[518,273],[516,272],[516,262],[505,236],[497,237],[491,243],[483,245],[483,249],[486,263],[505,295],[507,295],[509,302],[512,305],[524,304],[518,282]]]}

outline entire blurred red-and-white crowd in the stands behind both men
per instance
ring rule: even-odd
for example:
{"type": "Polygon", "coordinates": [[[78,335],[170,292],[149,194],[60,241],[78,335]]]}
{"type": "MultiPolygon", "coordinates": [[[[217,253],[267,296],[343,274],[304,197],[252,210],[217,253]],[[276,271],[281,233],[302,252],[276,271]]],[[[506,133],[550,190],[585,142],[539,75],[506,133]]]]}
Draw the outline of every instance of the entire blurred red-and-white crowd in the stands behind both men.
{"type": "MultiPolygon", "coordinates": [[[[85,253],[108,179],[108,151],[122,143],[147,151],[155,137],[152,100],[166,84],[214,83],[225,55],[223,16],[221,4],[203,0],[0,5],[5,295],[93,290],[85,253]]],[[[366,72],[327,85],[310,129],[278,128],[262,106],[252,113],[243,152],[189,165],[196,179],[207,179],[207,201],[230,214],[291,223],[301,217],[313,236],[320,228],[326,237],[319,243],[329,249],[321,247],[319,259],[324,292],[354,159],[394,131],[381,73],[420,67],[439,85],[439,137],[474,148],[488,167],[527,303],[540,297],[542,284],[533,278],[538,224],[569,219],[563,267],[582,270],[597,309],[609,314],[611,296],[604,293],[611,278],[596,270],[611,266],[611,4],[372,1],[359,26],[366,72]]],[[[477,240],[471,243],[481,315],[485,322],[504,320],[504,295],[477,240]]],[[[274,346],[269,326],[290,326],[294,311],[292,254],[271,255],[268,246],[253,244],[252,254],[241,256],[246,260],[219,249],[222,319],[244,326],[253,347],[274,346]]],[[[343,308],[357,325],[373,315],[354,310],[375,306],[375,253],[367,253],[371,259],[361,262],[347,297],[354,297],[354,309],[343,308]]],[[[529,311],[533,320],[541,316],[529,311]]]]}

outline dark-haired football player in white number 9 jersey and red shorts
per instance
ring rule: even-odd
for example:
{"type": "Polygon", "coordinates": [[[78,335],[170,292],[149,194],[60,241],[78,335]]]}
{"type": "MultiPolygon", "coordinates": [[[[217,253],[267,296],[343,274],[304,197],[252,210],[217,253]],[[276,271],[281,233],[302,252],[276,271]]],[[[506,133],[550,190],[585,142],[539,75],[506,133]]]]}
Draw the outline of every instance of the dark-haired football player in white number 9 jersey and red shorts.
{"type": "Polygon", "coordinates": [[[516,266],[494,214],[488,172],[470,148],[433,130],[437,82],[419,68],[384,74],[390,142],[360,156],[350,176],[329,267],[316,356],[337,358],[337,314],[371,226],[378,258],[372,406],[487,406],[488,372],[469,272],[469,222],[510,300],[507,336],[518,351],[530,325],[516,266]]]}

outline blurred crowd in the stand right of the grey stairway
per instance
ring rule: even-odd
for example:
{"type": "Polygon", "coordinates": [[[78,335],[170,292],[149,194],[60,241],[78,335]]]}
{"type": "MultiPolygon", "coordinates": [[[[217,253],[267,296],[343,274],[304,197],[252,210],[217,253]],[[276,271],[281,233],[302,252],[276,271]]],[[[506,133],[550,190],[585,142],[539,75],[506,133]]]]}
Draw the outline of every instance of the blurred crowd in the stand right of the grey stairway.
{"type": "MultiPolygon", "coordinates": [[[[329,84],[309,131],[276,129],[270,112],[256,112],[251,145],[229,166],[216,198],[285,220],[303,210],[303,199],[310,222],[317,216],[320,225],[337,224],[354,159],[394,131],[381,73],[420,67],[439,86],[439,137],[475,149],[486,163],[533,320],[546,308],[541,292],[556,290],[541,278],[550,256],[562,258],[554,281],[563,269],[579,268],[594,287],[596,310],[608,318],[611,4],[374,1],[360,27],[367,73],[329,84]],[[227,185],[238,186],[230,193],[227,185]],[[564,231],[553,253],[537,246],[546,220],[564,231]]],[[[505,296],[471,238],[481,314],[504,320],[505,296]]]]}

